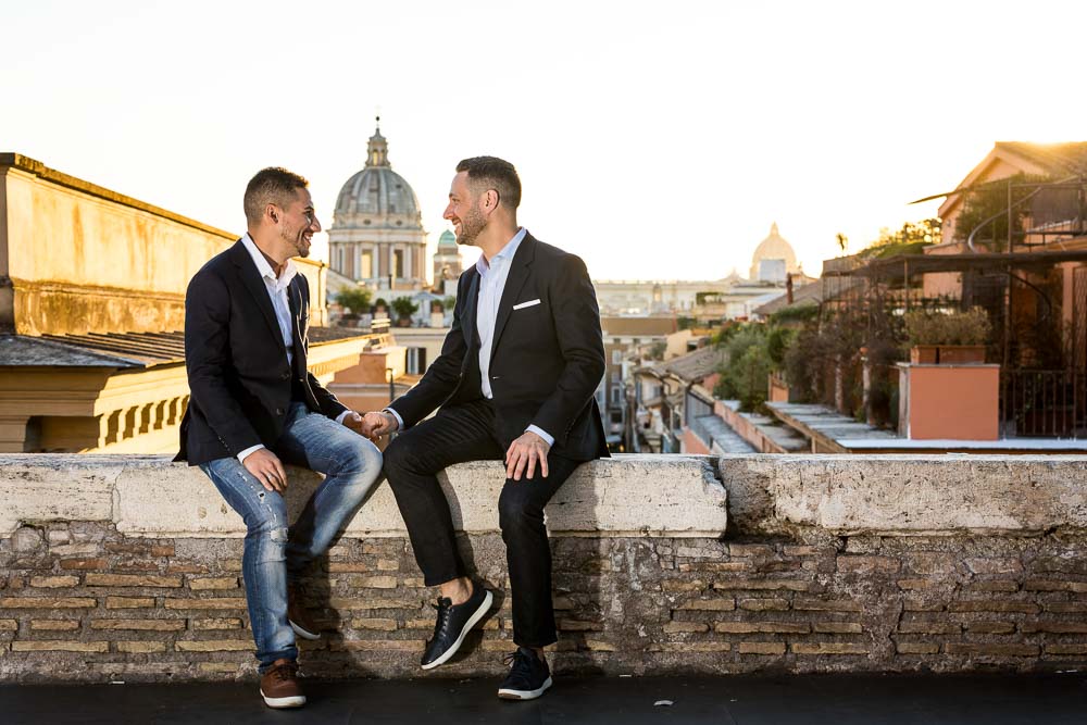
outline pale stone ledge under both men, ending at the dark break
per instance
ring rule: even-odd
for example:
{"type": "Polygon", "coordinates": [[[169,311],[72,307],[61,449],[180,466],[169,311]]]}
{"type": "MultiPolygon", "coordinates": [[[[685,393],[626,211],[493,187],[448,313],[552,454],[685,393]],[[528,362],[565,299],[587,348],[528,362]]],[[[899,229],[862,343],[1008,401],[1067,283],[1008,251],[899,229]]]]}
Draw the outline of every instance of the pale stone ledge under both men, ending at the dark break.
{"type": "MultiPolygon", "coordinates": [[[[555,536],[716,537],[727,525],[724,487],[710,457],[624,455],[579,467],[548,505],[555,536]],[[666,484],[666,485],[665,485],[666,484]]],[[[318,477],[291,468],[287,500],[300,511],[318,477]]],[[[501,463],[451,466],[441,475],[458,529],[497,532],[501,463]]],[[[0,455],[0,536],[21,523],[105,521],[130,536],[243,536],[241,518],[198,470],[161,455],[0,455]]],[[[354,517],[350,537],[401,537],[386,484],[354,517]]]]}

